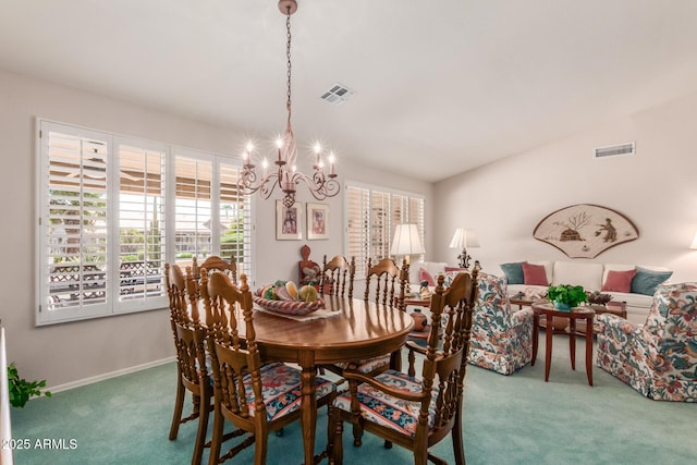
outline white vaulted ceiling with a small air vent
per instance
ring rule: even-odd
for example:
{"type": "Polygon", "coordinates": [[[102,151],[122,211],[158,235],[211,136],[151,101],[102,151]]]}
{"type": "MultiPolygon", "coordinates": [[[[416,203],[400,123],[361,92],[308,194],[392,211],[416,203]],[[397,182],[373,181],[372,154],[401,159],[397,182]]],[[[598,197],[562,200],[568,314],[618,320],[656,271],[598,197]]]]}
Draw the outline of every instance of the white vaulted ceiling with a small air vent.
{"type": "MultiPolygon", "coordinates": [[[[276,0],[0,8],[2,69],[257,138],[284,127],[276,0]]],[[[292,25],[298,144],[431,182],[697,91],[694,0],[298,0],[292,25]],[[337,82],[356,95],[320,100],[337,82]]]]}

